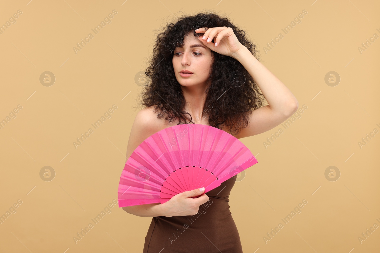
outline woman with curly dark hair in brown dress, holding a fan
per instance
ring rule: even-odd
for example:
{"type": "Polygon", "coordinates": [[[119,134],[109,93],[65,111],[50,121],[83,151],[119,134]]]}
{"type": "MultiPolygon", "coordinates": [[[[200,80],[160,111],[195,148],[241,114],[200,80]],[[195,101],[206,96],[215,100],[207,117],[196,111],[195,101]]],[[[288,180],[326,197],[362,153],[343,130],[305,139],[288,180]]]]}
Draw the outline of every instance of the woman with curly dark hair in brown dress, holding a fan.
{"type": "MultiPolygon", "coordinates": [[[[216,14],[199,13],[169,24],[157,37],[146,71],[145,108],[133,123],[127,160],[142,141],[166,127],[207,124],[243,138],[268,131],[293,114],[296,98],[256,59],[255,48],[244,31],[216,14]]],[[[177,194],[164,204],[123,207],[153,217],[143,252],[242,252],[228,205],[235,179],[207,193],[177,194]]]]}

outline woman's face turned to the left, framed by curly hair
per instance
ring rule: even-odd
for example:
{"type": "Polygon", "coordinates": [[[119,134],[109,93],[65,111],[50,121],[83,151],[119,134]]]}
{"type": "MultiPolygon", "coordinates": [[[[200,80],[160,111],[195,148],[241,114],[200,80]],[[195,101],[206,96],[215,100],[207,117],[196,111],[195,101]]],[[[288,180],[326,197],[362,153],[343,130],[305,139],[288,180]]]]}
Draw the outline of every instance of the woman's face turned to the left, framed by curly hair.
{"type": "Polygon", "coordinates": [[[173,68],[177,81],[182,86],[204,85],[209,83],[213,57],[211,49],[204,46],[198,37],[189,33],[184,38],[185,44],[176,47],[173,55],[173,68]],[[184,70],[193,74],[181,74],[184,70]]]}

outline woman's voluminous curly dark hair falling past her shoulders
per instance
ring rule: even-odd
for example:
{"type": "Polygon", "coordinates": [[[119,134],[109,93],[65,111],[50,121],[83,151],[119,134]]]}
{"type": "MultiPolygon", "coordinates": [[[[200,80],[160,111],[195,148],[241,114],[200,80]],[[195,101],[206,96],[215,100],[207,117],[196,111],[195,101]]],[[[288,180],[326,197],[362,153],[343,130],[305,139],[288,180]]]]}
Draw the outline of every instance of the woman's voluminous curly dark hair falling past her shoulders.
{"type": "MultiPolygon", "coordinates": [[[[163,118],[165,113],[165,119],[169,122],[178,118],[178,124],[194,123],[190,113],[184,112],[186,101],[174,74],[172,58],[174,49],[183,45],[185,35],[192,32],[194,36],[199,36],[195,30],[201,27],[231,27],[239,42],[258,59],[256,45],[245,37],[245,31],[237,28],[228,18],[206,13],[179,17],[175,24],[167,25],[166,30],[157,35],[145,72],[149,81],[141,93],[142,104],[146,107],[154,105],[155,112],[159,111],[158,118],[163,118]]],[[[218,129],[228,126],[231,134],[239,134],[240,129],[248,125],[247,113],[263,106],[263,94],[239,61],[212,50],[211,54],[214,62],[205,101],[209,125],[218,129]]]]}

